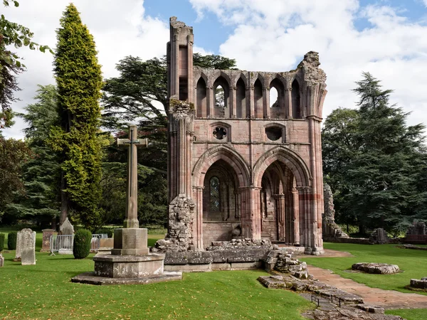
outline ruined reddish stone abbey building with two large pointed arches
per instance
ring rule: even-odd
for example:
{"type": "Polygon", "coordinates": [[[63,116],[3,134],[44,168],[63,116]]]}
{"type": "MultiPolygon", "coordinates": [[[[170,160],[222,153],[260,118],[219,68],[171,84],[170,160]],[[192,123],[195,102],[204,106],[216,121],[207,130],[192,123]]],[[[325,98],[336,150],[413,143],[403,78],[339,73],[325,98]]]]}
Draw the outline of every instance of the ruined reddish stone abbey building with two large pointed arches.
{"type": "Polygon", "coordinates": [[[327,91],[318,54],[289,72],[202,69],[193,41],[193,29],[172,17],[167,240],[175,251],[202,251],[212,241],[268,238],[320,254],[327,91]]]}

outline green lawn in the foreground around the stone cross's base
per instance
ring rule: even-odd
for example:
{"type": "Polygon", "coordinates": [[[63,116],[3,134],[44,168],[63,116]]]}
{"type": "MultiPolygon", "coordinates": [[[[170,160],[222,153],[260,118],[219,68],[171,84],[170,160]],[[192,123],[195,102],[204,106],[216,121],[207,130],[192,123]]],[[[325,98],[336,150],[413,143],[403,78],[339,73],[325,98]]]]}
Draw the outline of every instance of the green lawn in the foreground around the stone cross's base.
{"type": "MultiPolygon", "coordinates": [[[[154,243],[163,235],[153,238],[154,243]]],[[[37,234],[41,240],[41,234],[37,234]]],[[[38,245],[38,249],[40,248],[38,245]]],[[[303,319],[312,308],[295,293],[265,289],[254,271],[186,273],[179,282],[130,286],[74,284],[71,277],[93,270],[90,255],[36,252],[37,265],[13,262],[4,253],[0,270],[0,319],[303,319]]]]}

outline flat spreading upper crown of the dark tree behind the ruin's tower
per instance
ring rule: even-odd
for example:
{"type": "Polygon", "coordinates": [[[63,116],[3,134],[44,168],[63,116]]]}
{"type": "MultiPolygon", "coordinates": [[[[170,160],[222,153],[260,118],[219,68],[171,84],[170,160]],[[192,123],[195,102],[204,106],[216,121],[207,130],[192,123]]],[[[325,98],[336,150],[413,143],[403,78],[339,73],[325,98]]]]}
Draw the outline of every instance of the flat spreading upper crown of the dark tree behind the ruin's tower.
{"type": "MultiPolygon", "coordinates": [[[[194,66],[201,68],[232,69],[236,60],[221,55],[194,53],[194,66]]],[[[127,56],[116,65],[119,77],[105,80],[102,88],[102,126],[107,129],[125,129],[128,122],[142,118],[154,121],[167,113],[166,57],[147,61],[127,56]]]]}

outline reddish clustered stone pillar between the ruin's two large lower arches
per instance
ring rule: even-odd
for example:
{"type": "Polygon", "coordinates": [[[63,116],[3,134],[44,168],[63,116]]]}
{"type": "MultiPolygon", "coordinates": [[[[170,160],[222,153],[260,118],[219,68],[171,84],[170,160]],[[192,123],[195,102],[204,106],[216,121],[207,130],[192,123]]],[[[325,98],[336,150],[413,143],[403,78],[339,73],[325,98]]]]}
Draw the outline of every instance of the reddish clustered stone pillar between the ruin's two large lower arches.
{"type": "Polygon", "coordinates": [[[244,238],[261,238],[260,190],[256,187],[241,187],[241,221],[244,238]]]}

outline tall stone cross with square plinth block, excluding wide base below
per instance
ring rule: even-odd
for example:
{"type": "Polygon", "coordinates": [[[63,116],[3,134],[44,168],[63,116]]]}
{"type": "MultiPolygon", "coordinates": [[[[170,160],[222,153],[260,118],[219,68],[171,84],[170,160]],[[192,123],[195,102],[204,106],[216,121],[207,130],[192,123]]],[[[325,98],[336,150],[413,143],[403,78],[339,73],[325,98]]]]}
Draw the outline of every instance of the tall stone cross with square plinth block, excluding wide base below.
{"type": "Polygon", "coordinates": [[[128,148],[126,214],[122,229],[114,230],[112,255],[147,255],[147,229],[138,221],[138,162],[137,147],[147,146],[147,139],[137,139],[137,126],[129,126],[129,139],[117,139],[118,146],[128,148]]]}

